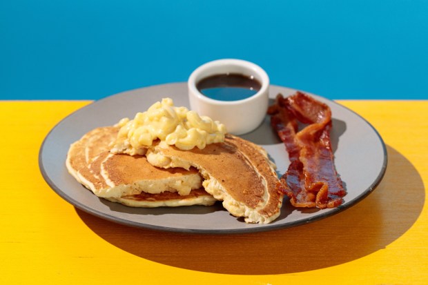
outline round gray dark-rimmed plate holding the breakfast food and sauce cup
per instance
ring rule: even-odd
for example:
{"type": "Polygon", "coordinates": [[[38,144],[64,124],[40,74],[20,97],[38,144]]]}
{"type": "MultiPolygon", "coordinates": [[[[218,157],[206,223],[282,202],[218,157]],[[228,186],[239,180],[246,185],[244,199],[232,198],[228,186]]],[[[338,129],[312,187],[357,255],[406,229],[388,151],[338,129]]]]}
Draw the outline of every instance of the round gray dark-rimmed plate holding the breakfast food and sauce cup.
{"type": "MultiPolygon", "coordinates": [[[[295,90],[271,86],[271,98],[281,92],[291,95],[295,90]]],[[[155,101],[171,97],[175,106],[188,107],[186,83],[171,83],[122,92],[95,101],[63,119],[43,141],[39,153],[41,173],[55,192],[70,204],[90,214],[128,226],[170,230],[186,233],[250,233],[307,224],[349,208],[366,197],[379,184],[387,167],[387,151],[378,132],[362,117],[333,101],[313,95],[328,104],[333,112],[331,141],[335,166],[344,181],[347,195],[344,204],[333,209],[293,208],[284,199],[280,217],[271,224],[246,224],[231,216],[220,203],[215,206],[177,208],[131,208],[100,199],[86,190],[68,174],[66,153],[72,142],[89,130],[111,126],[123,117],[133,118],[155,101]]],[[[282,142],[269,125],[269,118],[245,139],[263,146],[282,175],[289,165],[282,142]]],[[[236,177],[240,174],[236,173],[236,177]]]]}

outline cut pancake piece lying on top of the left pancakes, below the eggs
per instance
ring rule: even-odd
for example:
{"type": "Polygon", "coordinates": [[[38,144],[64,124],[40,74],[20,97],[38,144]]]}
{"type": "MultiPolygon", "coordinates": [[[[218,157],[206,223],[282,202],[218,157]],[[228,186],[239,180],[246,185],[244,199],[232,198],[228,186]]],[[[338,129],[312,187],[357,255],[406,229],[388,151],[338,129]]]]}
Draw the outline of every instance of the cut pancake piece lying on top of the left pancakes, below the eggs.
{"type": "Polygon", "coordinates": [[[202,186],[197,169],[161,169],[148,163],[144,156],[115,155],[105,151],[77,176],[98,197],[119,198],[139,193],[177,192],[188,195],[202,186]]]}

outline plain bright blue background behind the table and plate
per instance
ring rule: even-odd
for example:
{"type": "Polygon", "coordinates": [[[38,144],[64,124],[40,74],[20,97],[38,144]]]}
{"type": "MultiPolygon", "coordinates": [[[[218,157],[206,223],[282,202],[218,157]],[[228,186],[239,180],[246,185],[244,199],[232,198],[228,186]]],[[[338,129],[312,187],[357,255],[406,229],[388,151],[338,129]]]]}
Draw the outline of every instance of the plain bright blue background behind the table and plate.
{"type": "Polygon", "coordinates": [[[428,99],[428,0],[0,1],[0,99],[99,99],[221,58],[330,99],[428,99]]]}

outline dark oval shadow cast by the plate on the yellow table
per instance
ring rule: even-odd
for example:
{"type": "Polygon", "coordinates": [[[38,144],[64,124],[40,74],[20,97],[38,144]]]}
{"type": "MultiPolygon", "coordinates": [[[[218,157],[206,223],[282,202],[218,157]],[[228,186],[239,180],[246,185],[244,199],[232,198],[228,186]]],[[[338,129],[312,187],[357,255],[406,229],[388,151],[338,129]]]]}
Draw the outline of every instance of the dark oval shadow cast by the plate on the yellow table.
{"type": "Polygon", "coordinates": [[[422,178],[397,150],[387,146],[387,152],[387,172],[371,195],[304,226],[239,235],[169,233],[115,224],[77,208],[76,212],[102,239],[159,264],[235,275],[312,271],[385,248],[418,219],[425,201],[422,178]]]}

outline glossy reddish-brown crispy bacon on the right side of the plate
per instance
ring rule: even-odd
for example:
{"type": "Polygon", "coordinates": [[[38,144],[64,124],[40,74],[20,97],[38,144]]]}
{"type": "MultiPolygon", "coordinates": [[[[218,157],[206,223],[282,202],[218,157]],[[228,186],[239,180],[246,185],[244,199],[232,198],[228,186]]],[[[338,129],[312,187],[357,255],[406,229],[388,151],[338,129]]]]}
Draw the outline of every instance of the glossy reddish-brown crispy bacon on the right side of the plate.
{"type": "Polygon", "coordinates": [[[278,95],[269,107],[271,124],[289,153],[290,166],[278,184],[295,207],[334,208],[346,191],[334,166],[329,106],[302,92],[278,95]],[[300,124],[308,124],[298,130],[300,124]]]}

